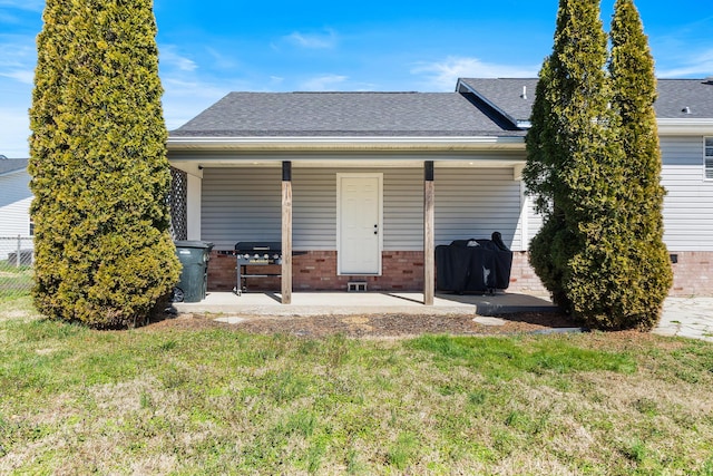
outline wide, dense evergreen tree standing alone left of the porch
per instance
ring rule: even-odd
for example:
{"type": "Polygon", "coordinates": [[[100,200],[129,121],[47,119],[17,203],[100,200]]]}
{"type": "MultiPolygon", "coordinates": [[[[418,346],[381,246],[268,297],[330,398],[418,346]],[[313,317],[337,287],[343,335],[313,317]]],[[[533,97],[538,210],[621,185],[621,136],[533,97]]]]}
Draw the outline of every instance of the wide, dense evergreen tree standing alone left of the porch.
{"type": "Polygon", "coordinates": [[[150,0],[48,0],[30,122],[35,302],[97,328],[146,320],[178,279],[150,0]]]}

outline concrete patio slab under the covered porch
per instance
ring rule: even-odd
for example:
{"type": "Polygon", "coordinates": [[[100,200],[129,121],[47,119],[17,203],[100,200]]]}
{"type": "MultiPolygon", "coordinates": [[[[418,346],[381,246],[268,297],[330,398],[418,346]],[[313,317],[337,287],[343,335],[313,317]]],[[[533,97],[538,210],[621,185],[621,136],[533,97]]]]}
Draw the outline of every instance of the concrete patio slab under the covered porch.
{"type": "Polygon", "coordinates": [[[178,312],[232,315],[349,315],[360,313],[478,314],[555,311],[549,298],[516,293],[437,293],[433,305],[423,305],[420,292],[294,292],[292,304],[282,304],[277,292],[208,292],[201,302],[175,303],[178,312]]]}

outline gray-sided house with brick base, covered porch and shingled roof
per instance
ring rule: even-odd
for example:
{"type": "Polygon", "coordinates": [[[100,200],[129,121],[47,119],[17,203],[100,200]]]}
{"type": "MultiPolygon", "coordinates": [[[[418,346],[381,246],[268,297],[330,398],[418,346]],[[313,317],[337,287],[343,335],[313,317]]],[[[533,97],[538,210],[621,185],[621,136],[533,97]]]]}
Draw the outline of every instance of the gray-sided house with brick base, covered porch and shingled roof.
{"type": "MultiPolygon", "coordinates": [[[[509,290],[541,291],[527,262],[541,220],[520,177],[536,82],[232,93],[169,135],[178,237],[214,243],[214,290],[235,286],[235,259],[219,251],[282,240],[300,252],[283,266],[283,294],[365,281],[423,290],[428,302],[433,246],[498,231],[515,252],[509,290]]],[[[672,293],[712,294],[713,82],[660,80],[656,110],[672,293]]]]}

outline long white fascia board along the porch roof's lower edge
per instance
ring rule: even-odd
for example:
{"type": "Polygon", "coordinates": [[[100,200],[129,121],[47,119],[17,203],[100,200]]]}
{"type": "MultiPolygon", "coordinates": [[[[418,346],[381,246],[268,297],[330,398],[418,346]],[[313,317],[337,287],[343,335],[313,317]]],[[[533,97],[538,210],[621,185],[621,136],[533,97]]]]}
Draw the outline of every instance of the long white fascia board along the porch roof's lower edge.
{"type": "Polygon", "coordinates": [[[168,150],[502,150],[524,149],[510,137],[169,137],[168,150]]]}

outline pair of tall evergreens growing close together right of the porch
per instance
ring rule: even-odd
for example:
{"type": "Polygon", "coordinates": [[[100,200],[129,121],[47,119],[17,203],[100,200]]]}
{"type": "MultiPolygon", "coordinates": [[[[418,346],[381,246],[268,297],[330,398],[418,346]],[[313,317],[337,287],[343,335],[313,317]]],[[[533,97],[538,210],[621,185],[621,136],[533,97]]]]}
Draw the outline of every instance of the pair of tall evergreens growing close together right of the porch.
{"type": "Polygon", "coordinates": [[[611,77],[596,0],[560,0],[525,181],[545,216],[530,262],[555,302],[597,329],[651,329],[671,284],[653,60],[618,0],[611,77]],[[652,127],[653,125],[653,127],[652,127]]]}

